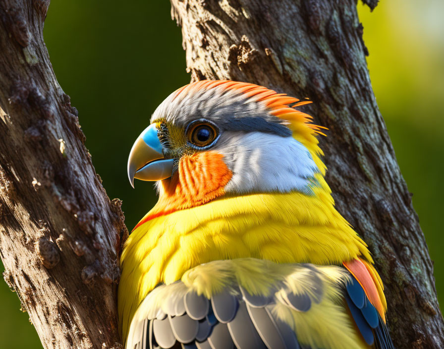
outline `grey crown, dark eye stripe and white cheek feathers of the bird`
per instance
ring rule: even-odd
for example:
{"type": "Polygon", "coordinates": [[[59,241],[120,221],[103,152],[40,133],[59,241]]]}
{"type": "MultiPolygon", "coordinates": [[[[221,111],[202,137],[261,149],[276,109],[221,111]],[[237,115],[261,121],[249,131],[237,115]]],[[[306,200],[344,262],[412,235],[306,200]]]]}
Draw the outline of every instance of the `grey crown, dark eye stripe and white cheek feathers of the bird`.
{"type": "Polygon", "coordinates": [[[199,118],[221,129],[218,142],[208,150],[224,155],[233,173],[225,192],[289,192],[312,194],[319,172],[310,152],[291,137],[284,120],[270,114],[255,98],[222,87],[192,88],[172,93],[156,109],[152,122],[166,120],[183,127],[199,118]]]}

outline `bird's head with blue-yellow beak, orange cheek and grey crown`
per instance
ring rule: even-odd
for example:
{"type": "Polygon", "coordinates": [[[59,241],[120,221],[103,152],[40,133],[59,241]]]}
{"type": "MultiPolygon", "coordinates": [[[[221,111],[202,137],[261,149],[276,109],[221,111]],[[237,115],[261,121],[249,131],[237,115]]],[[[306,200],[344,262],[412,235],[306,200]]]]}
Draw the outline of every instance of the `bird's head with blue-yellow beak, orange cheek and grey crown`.
{"type": "Polygon", "coordinates": [[[134,143],[128,176],[158,181],[159,212],[223,195],[326,186],[308,101],[254,84],[199,81],[173,92],[134,143]],[[292,107],[289,107],[292,105],[292,107]]]}

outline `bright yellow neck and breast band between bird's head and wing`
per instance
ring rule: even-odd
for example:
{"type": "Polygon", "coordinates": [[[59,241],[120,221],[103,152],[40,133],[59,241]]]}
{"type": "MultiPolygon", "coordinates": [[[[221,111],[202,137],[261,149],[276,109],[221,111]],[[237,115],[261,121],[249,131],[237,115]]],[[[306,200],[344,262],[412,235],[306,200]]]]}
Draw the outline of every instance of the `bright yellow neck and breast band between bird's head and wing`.
{"type": "MultiPolygon", "coordinates": [[[[142,298],[213,260],[260,258],[278,263],[340,264],[371,260],[365,243],[335,210],[330,193],[222,196],[192,209],[153,215],[129,236],[122,262],[142,298]]],[[[122,277],[127,277],[122,275],[122,277]]]]}

